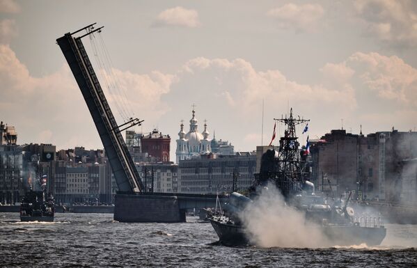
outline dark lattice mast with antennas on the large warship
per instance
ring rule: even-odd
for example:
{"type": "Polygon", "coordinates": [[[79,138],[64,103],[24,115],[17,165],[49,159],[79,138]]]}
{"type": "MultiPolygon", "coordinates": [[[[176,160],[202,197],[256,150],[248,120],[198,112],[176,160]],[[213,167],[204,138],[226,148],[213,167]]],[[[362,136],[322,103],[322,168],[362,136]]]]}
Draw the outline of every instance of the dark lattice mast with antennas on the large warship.
{"type": "Polygon", "coordinates": [[[277,172],[275,174],[276,187],[281,190],[285,198],[289,198],[301,191],[304,184],[304,172],[300,166],[300,151],[298,137],[296,134],[296,125],[308,123],[310,120],[304,118],[294,118],[292,108],[287,118],[274,118],[278,123],[285,124],[284,136],[279,141],[279,151],[277,163],[277,172]]]}

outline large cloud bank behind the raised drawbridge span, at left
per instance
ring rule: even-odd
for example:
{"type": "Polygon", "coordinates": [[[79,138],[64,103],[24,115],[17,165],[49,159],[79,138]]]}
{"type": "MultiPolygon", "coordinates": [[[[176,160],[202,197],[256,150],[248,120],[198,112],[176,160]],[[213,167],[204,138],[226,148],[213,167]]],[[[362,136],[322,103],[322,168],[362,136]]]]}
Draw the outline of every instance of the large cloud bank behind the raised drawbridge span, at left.
{"type": "MultiPolygon", "coordinates": [[[[113,72],[119,77],[120,88],[128,92],[125,104],[142,119],[157,120],[164,112],[159,97],[169,90],[174,77],[160,72],[144,75],[120,70],[113,72]]],[[[93,120],[66,63],[52,74],[33,77],[8,45],[0,45],[0,81],[0,114],[7,116],[1,120],[15,125],[19,143],[49,142],[58,148],[72,148],[74,145],[102,148],[93,120]],[[10,113],[13,109],[18,111],[10,113]]],[[[122,97],[126,100],[120,94],[110,94],[105,83],[102,87],[112,108],[116,101],[120,103],[122,97]]],[[[113,113],[120,122],[116,109],[113,113]]]]}

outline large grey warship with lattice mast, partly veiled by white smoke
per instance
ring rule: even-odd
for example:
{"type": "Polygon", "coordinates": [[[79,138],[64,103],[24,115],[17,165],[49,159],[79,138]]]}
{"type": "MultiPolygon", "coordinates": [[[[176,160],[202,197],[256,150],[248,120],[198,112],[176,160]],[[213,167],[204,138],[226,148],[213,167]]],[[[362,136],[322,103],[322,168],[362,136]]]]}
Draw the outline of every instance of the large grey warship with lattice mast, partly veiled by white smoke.
{"type": "MultiPolygon", "coordinates": [[[[310,168],[306,161],[309,154],[308,137],[306,146],[300,148],[296,135],[296,126],[306,125],[306,132],[309,120],[294,118],[292,109],[288,117],[274,120],[285,125],[284,136],[279,140],[278,150],[269,149],[262,155],[260,173],[255,174],[255,181],[247,191],[247,196],[233,192],[227,203],[217,206],[207,216],[219,236],[219,242],[226,246],[255,244],[246,231],[244,218],[251,216],[245,215],[249,213],[246,207],[256,203],[262,192],[273,187],[283,197],[283,205],[304,216],[306,228],[316,228],[326,237],[330,243],[326,246],[381,244],[386,236],[381,219],[377,216],[355,216],[352,207],[348,207],[352,192],[347,193],[345,198],[329,198],[315,192],[315,184],[309,180],[310,168]]],[[[272,140],[274,136],[275,127],[272,140]]]]}

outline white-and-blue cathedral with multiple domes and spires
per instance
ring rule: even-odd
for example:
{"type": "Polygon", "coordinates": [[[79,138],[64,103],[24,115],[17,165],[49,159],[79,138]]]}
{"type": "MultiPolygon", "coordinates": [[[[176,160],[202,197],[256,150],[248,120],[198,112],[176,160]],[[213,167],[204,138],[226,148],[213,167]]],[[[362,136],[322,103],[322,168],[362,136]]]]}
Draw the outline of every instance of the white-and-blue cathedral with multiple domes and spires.
{"type": "Polygon", "coordinates": [[[208,139],[209,132],[207,131],[207,123],[204,123],[203,133],[198,132],[198,120],[196,118],[196,111],[192,111],[193,117],[189,120],[189,132],[184,132],[184,124],[181,122],[181,129],[178,133],[177,140],[177,163],[180,160],[191,159],[193,156],[212,152],[210,139],[208,139]]]}

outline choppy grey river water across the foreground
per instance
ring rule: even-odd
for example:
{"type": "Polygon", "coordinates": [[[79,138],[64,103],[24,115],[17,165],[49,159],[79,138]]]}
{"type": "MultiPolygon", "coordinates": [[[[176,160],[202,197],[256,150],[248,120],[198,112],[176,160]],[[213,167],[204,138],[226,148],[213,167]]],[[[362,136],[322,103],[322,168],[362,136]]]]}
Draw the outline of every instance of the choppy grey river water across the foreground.
{"type": "Polygon", "coordinates": [[[0,213],[1,267],[417,267],[417,226],[387,225],[381,246],[226,247],[210,223],[118,223],[113,214],[56,214],[21,223],[0,213]]]}

